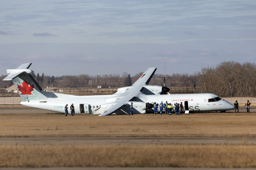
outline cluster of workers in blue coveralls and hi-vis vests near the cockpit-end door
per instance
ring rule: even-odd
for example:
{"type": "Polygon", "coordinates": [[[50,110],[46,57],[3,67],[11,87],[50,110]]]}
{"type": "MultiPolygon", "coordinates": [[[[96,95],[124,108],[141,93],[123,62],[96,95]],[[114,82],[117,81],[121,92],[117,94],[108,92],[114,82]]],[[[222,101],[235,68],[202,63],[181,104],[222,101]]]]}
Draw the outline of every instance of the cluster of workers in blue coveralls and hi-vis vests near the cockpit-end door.
{"type": "MultiPolygon", "coordinates": [[[[182,102],[180,102],[180,106],[178,105],[178,103],[174,103],[175,104],[175,115],[180,115],[180,114],[183,114],[183,105],[182,105],[182,102]]],[[[163,112],[163,108],[165,110],[165,115],[172,115],[172,103],[169,103],[166,101],[165,103],[163,103],[161,101],[161,103],[158,105],[156,104],[156,102],[153,104],[153,108],[154,108],[154,113],[155,115],[157,115],[158,113],[158,108],[159,106],[159,109],[160,109],[160,115],[162,115],[162,112],[163,112]]]]}

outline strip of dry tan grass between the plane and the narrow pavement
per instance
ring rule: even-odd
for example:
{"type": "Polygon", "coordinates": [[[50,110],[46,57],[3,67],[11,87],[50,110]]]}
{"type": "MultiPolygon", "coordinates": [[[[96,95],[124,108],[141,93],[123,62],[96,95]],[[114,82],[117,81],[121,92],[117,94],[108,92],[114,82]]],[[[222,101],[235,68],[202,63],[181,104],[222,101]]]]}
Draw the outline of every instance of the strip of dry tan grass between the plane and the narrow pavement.
{"type": "Polygon", "coordinates": [[[1,114],[0,137],[256,137],[256,113],[1,114]]]}

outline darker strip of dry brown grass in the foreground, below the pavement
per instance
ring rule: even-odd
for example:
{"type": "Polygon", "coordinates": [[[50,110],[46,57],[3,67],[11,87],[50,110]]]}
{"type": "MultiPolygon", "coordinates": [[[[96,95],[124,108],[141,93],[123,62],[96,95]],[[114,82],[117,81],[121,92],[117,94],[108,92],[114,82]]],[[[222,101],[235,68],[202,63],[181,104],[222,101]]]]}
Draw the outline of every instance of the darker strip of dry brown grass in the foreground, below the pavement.
{"type": "Polygon", "coordinates": [[[252,145],[0,146],[1,167],[256,167],[252,145]]]}

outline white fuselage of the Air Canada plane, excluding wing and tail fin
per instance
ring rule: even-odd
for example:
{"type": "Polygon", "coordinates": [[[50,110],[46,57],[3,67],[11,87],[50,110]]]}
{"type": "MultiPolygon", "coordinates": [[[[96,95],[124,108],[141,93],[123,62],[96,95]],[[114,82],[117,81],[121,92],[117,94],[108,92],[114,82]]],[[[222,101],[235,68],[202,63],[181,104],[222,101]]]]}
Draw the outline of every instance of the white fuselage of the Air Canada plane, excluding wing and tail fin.
{"type": "MultiPolygon", "coordinates": [[[[54,94],[57,96],[57,98],[51,98],[44,101],[24,101],[20,102],[20,104],[28,107],[35,107],[54,112],[65,113],[65,105],[68,104],[68,107],[70,107],[70,105],[73,103],[76,114],[101,114],[101,112],[104,111],[100,109],[101,105],[113,103],[120,97],[118,94],[98,96],[74,96],[60,93],[54,94]]],[[[167,101],[168,103],[172,103],[173,109],[175,103],[180,104],[180,102],[182,102],[184,106],[183,110],[185,110],[185,105],[187,105],[190,112],[225,111],[234,109],[234,106],[226,100],[209,100],[216,97],[218,96],[211,93],[171,95],[145,95],[143,93],[140,93],[139,95],[137,95],[137,99],[135,101],[142,101],[145,103],[156,102],[158,104],[161,103],[161,101],[163,101],[163,103],[167,101]]],[[[68,112],[70,113],[69,109],[68,112]]]]}

